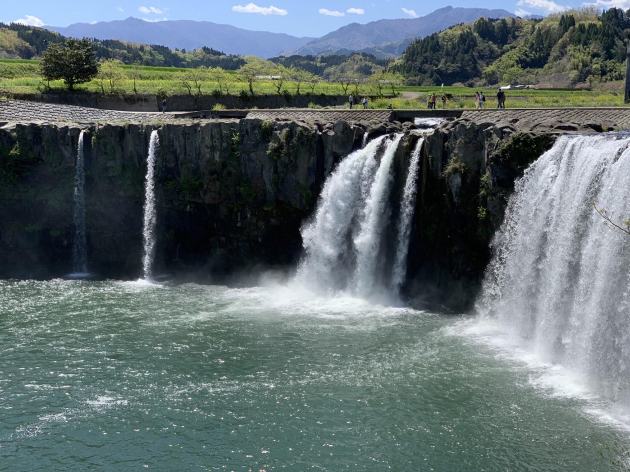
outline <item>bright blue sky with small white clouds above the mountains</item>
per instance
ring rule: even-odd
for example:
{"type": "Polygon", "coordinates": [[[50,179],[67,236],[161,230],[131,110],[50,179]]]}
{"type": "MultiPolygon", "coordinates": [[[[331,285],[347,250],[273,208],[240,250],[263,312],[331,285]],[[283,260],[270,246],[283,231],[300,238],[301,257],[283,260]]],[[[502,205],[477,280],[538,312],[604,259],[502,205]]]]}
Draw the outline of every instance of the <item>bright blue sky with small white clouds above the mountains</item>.
{"type": "MultiPolygon", "coordinates": [[[[423,16],[442,6],[503,8],[517,14],[548,14],[577,8],[576,0],[471,0],[444,4],[418,0],[151,0],[68,1],[2,0],[1,21],[41,26],[123,20],[128,16],[147,21],[206,20],[248,30],[289,33],[294,36],[323,36],[348,23],[368,23],[382,18],[423,16]]],[[[630,0],[594,0],[600,8],[630,8],[630,0]]]]}

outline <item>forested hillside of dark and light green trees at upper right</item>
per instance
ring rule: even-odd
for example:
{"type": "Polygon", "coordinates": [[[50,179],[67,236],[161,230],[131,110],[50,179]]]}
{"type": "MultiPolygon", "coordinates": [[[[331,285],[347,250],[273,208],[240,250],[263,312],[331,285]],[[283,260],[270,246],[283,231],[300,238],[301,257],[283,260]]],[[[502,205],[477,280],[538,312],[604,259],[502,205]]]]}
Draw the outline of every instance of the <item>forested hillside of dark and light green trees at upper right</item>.
{"type": "Polygon", "coordinates": [[[595,8],[543,20],[479,18],[413,42],[392,69],[408,84],[576,84],[625,76],[630,10],[595,8]]]}

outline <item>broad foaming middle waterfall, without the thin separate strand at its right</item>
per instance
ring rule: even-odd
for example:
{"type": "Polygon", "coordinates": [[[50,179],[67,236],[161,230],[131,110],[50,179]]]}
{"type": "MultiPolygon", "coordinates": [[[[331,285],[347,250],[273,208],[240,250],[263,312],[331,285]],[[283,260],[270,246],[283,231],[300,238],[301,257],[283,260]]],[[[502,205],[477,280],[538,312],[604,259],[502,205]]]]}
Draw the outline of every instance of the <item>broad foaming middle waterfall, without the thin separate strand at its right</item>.
{"type": "Polygon", "coordinates": [[[391,167],[403,135],[376,138],[343,159],[328,177],[316,213],[302,225],[304,257],[297,281],[359,294],[385,272],[382,233],[389,213],[391,167]]]}

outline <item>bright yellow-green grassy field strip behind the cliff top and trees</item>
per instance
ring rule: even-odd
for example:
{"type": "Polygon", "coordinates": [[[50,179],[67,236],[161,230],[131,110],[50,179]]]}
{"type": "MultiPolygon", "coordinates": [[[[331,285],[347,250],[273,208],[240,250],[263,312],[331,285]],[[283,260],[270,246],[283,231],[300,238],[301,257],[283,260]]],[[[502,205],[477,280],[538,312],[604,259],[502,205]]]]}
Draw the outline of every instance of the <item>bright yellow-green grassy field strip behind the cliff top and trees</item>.
{"type": "MultiPolygon", "coordinates": [[[[120,93],[133,93],[133,69],[132,65],[123,65],[123,71],[127,75],[127,79],[121,81],[117,85],[120,93]]],[[[186,69],[178,69],[175,67],[149,67],[142,66],[140,68],[140,76],[136,81],[136,90],[140,94],[157,94],[158,91],[164,90],[168,94],[186,94],[188,91],[185,86],[178,80],[177,75],[185,72],[186,69]]],[[[239,94],[242,90],[248,90],[246,82],[238,81],[236,72],[234,74],[235,82],[231,84],[230,93],[239,94]]],[[[62,89],[61,81],[50,82],[50,86],[54,89],[62,89]]],[[[210,94],[217,89],[215,82],[204,82],[202,93],[210,94]]],[[[77,91],[95,92],[101,91],[101,86],[97,81],[82,84],[76,87],[77,91]]],[[[295,93],[295,86],[291,82],[286,82],[283,90],[289,93],[295,93]]],[[[21,59],[0,59],[0,96],[8,93],[39,93],[45,90],[45,84],[38,75],[38,62],[34,60],[21,59]]],[[[277,89],[273,86],[272,81],[256,81],[254,84],[255,93],[275,94],[277,89]]],[[[467,87],[444,87],[444,91],[452,96],[452,100],[447,102],[447,108],[474,108],[474,91],[467,87]]],[[[301,92],[310,93],[310,87],[302,84],[301,92]]],[[[387,89],[384,89],[387,93],[387,89]]],[[[438,96],[438,108],[442,108],[439,100],[442,96],[441,87],[396,87],[397,93],[416,92],[420,93],[420,99],[406,98],[377,98],[370,101],[370,108],[386,108],[391,104],[394,108],[425,108],[426,96],[435,92],[438,96]]],[[[340,84],[322,82],[315,87],[316,94],[344,94],[340,84]]],[[[369,94],[367,85],[360,86],[359,94],[369,94]]],[[[488,108],[496,108],[496,90],[484,89],[486,94],[486,106],[488,108]]],[[[507,100],[505,103],[507,108],[563,108],[563,107],[612,107],[624,106],[623,103],[623,83],[609,82],[608,84],[600,84],[598,89],[576,90],[576,91],[549,91],[549,90],[510,90],[507,91],[507,100]]]]}

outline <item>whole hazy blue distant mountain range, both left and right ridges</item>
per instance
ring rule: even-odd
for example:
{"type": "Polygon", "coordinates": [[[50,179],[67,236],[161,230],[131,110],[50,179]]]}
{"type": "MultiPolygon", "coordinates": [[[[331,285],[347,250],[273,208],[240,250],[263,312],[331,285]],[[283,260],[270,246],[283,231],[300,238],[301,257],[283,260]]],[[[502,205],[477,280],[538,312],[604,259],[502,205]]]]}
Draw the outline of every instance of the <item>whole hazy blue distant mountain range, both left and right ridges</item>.
{"type": "Polygon", "coordinates": [[[256,55],[270,58],[278,55],[320,55],[344,52],[368,52],[377,57],[399,57],[415,38],[486,18],[515,18],[504,9],[453,8],[445,6],[418,18],[395,18],[350,23],[320,38],[294,37],[285,33],[251,31],[212,21],[169,20],[144,21],[130,16],[125,20],[98,23],[74,23],[70,26],[45,26],[66,37],[117,39],[144,44],[159,44],[171,49],[192,50],[202,46],[228,54],[256,55]]]}

